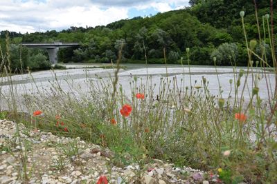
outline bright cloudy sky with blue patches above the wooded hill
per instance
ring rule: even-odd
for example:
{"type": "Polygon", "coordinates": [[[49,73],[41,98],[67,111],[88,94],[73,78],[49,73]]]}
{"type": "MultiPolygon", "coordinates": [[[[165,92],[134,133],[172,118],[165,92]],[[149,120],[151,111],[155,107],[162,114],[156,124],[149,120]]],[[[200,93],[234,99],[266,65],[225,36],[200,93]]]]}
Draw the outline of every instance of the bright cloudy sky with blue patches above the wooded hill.
{"type": "Polygon", "coordinates": [[[0,31],[46,32],[95,27],[179,10],[189,0],[0,0],[0,31]]]}

